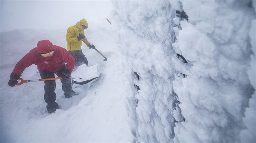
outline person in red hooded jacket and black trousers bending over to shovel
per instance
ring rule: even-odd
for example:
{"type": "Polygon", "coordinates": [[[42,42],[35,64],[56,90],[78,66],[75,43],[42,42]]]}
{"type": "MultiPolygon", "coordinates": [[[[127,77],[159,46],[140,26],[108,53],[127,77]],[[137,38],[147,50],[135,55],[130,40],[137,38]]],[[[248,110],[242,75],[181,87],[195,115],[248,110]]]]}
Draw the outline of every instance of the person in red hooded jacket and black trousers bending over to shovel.
{"type": "MultiPolygon", "coordinates": [[[[71,72],[75,66],[75,59],[65,48],[52,45],[49,40],[39,41],[37,47],[30,50],[17,62],[10,75],[9,86],[15,86],[26,67],[32,64],[37,65],[41,78],[54,78],[54,74],[61,77],[62,90],[66,98],[75,95],[70,79],[71,72]]],[[[55,88],[55,80],[44,81],[44,100],[47,103],[46,108],[49,113],[59,109],[58,103],[55,102],[55,88]]]]}

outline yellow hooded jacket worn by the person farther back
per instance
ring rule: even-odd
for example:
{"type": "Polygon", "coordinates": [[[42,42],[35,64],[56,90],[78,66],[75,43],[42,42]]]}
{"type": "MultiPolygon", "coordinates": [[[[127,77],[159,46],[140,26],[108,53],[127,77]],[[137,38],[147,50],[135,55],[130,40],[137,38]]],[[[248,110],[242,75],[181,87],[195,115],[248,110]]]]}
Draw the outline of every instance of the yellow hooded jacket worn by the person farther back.
{"type": "Polygon", "coordinates": [[[67,29],[67,35],[66,35],[67,50],[81,50],[82,41],[87,46],[89,45],[89,43],[87,42],[86,36],[84,39],[78,41],[77,36],[79,36],[79,34],[85,35],[82,25],[88,26],[88,23],[85,19],[81,19],[79,22],[76,23],[76,25],[71,26],[67,29]]]}

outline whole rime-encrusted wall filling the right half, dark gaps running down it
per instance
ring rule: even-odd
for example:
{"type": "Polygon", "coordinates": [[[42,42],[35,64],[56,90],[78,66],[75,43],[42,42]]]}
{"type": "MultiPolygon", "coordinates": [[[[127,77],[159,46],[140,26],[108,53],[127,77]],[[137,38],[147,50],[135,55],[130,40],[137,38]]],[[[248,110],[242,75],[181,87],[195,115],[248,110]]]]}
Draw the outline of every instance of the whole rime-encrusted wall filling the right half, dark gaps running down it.
{"type": "Polygon", "coordinates": [[[139,87],[128,97],[137,141],[256,140],[252,1],[113,3],[118,43],[139,87]]]}

